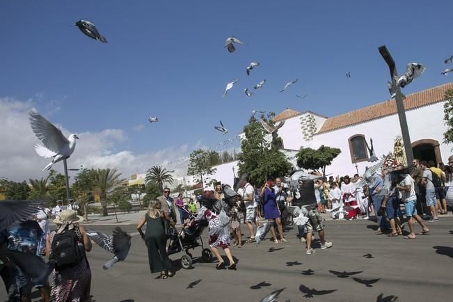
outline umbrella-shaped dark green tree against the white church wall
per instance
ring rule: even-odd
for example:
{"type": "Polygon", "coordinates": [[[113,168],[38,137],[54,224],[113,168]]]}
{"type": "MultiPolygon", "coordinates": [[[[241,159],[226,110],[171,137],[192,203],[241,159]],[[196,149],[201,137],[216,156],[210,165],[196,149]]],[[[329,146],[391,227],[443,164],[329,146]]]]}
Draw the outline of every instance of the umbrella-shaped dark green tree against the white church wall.
{"type": "Polygon", "coordinates": [[[340,149],[325,145],[321,145],[317,150],[301,148],[296,154],[297,166],[307,170],[319,171],[321,169],[322,175],[326,175],[326,166],[330,166],[333,159],[340,153],[340,149]]]}

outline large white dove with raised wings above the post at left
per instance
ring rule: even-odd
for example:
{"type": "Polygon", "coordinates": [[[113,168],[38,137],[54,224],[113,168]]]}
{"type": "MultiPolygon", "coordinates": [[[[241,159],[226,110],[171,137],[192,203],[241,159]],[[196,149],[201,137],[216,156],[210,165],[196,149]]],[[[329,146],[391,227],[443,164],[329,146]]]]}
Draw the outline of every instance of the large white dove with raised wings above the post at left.
{"type": "Polygon", "coordinates": [[[57,161],[67,159],[75,149],[77,134],[70,134],[67,138],[61,130],[43,118],[37,112],[30,112],[30,125],[35,136],[42,142],[42,145],[35,145],[35,151],[40,157],[54,157],[43,171],[49,170],[57,161]]]}

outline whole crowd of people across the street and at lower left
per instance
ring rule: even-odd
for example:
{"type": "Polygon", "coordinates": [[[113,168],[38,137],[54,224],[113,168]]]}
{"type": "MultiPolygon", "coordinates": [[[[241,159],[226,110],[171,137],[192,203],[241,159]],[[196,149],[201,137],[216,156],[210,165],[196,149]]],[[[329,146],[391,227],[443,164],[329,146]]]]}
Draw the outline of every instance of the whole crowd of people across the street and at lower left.
{"type": "MultiPolygon", "coordinates": [[[[307,255],[315,253],[313,232],[318,233],[321,250],[331,248],[321,216],[326,212],[335,219],[350,220],[367,219],[374,212],[379,223],[377,234],[398,237],[403,235],[407,223],[409,232],[404,238],[415,239],[415,223],[420,225],[420,234],[426,235],[429,228],[425,221],[434,223],[440,215],[447,214],[446,196],[453,197],[452,174],[453,156],[448,159],[448,166],[414,159],[411,167],[402,167],[395,160],[386,159],[379,170],[365,177],[365,182],[359,175],[327,179],[312,173],[299,177],[296,186],[283,182],[281,177],[269,178],[263,186],[253,186],[247,177],[242,177],[235,184],[236,191],[221,183],[212,191],[205,190],[197,198],[198,207],[193,199],[184,203],[182,194],[173,200],[170,189],[165,188],[162,196],[150,202],[137,230],[148,248],[150,271],[160,273],[161,279],[175,276],[168,256],[167,243],[175,240],[171,235],[184,236],[202,220],[207,221],[209,247],[218,260],[219,270],[237,270],[230,246],[241,248],[251,242],[259,243],[267,234],[267,230],[263,231],[266,227],[273,244],[287,244],[284,230],[291,218],[296,222],[307,255]],[[241,225],[245,225],[247,238],[241,225]]],[[[66,206],[61,200],[56,204],[53,209],[40,209],[32,220],[10,225],[1,232],[0,244],[9,251],[49,257],[53,261],[51,283],[38,285],[42,301],[89,301],[91,272],[86,253],[92,245],[80,225],[84,218],[77,215],[74,200],[69,200],[66,206]],[[49,219],[56,224],[51,231],[49,219]],[[63,253],[61,248],[66,248],[63,253]],[[71,248],[72,252],[67,253],[71,248]]],[[[21,287],[24,283],[20,280],[26,276],[20,268],[1,265],[0,275],[10,301],[27,301],[26,295],[30,293],[21,287]]]]}

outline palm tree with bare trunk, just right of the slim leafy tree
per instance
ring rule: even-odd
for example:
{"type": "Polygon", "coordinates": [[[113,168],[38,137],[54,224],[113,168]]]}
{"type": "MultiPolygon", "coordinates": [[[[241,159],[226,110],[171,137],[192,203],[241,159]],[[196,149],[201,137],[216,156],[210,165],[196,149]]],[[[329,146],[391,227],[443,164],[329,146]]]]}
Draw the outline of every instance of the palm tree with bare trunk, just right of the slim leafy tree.
{"type": "Polygon", "coordinates": [[[107,216],[107,194],[113,191],[118,185],[121,184],[121,173],[113,168],[97,169],[95,170],[95,191],[101,199],[102,216],[107,216]]]}

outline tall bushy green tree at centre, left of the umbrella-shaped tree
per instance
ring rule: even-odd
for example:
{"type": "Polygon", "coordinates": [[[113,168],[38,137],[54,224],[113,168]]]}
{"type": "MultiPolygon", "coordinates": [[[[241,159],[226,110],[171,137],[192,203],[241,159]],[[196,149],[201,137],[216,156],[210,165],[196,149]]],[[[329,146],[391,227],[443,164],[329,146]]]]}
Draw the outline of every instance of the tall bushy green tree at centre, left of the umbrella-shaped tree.
{"type": "MultiPolygon", "coordinates": [[[[270,113],[267,118],[261,116],[263,120],[273,125],[270,113]],[[269,119],[269,121],[267,120],[269,119]]],[[[275,132],[271,141],[267,141],[267,133],[255,118],[249,120],[249,124],[244,127],[245,139],[241,141],[241,152],[237,154],[239,159],[239,174],[248,175],[248,181],[252,184],[262,184],[267,177],[280,177],[286,175],[292,166],[287,161],[285,154],[280,152],[280,137],[275,132]]]]}

